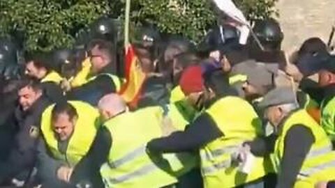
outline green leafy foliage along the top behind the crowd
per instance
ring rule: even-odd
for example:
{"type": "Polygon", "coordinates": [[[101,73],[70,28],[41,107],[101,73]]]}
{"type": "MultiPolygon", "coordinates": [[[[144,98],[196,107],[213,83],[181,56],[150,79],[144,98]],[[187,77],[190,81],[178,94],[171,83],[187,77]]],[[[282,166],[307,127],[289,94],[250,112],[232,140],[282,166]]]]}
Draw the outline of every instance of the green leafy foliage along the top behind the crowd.
{"type": "MultiPolygon", "coordinates": [[[[248,19],[274,13],[276,0],[235,0],[248,19]]],[[[28,50],[70,47],[75,33],[102,15],[123,19],[125,0],[0,0],[0,35],[22,31],[28,50]]],[[[209,0],[133,0],[131,21],[198,42],[216,22],[209,0]]],[[[133,27],[131,27],[133,29],[133,27]]]]}

